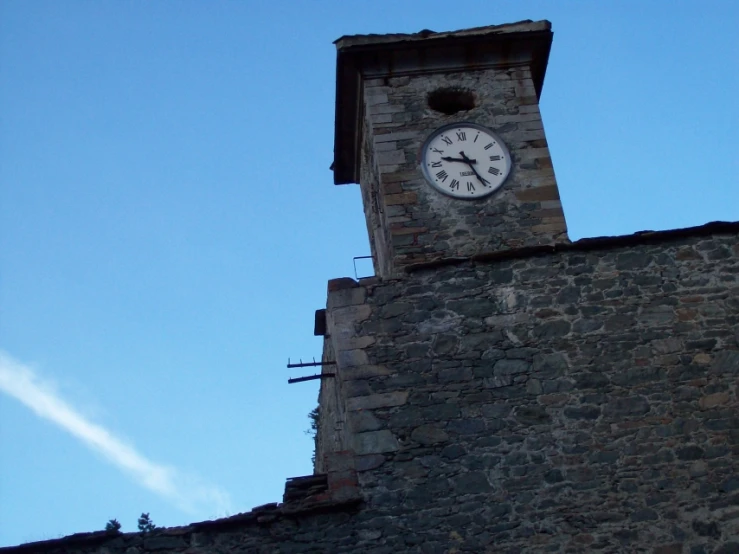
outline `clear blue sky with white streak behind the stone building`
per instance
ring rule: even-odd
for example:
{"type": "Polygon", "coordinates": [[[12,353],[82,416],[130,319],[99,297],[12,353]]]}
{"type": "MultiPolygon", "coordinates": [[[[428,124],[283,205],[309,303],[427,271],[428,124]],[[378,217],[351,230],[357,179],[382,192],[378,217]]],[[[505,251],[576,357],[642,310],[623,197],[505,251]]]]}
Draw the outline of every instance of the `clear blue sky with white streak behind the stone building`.
{"type": "Polygon", "coordinates": [[[549,19],[573,239],[739,220],[739,3],[0,3],[0,545],[178,525],[309,474],[344,34],[549,19]]]}

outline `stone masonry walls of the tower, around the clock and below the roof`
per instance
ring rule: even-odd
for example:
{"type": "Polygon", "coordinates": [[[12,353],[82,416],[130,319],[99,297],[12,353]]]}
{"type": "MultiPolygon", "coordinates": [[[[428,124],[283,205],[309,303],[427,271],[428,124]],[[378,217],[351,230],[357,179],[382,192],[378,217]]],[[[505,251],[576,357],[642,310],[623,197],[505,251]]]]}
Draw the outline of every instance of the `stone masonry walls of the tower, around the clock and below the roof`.
{"type": "Polygon", "coordinates": [[[442,257],[567,240],[527,66],[368,79],[364,103],[362,147],[374,157],[364,156],[361,186],[378,275],[388,277],[408,264],[442,257]],[[476,107],[454,115],[430,109],[428,94],[448,88],[472,91],[476,107]],[[439,194],[419,166],[426,137],[459,121],[495,131],[513,158],[503,188],[475,202],[439,194]]]}

